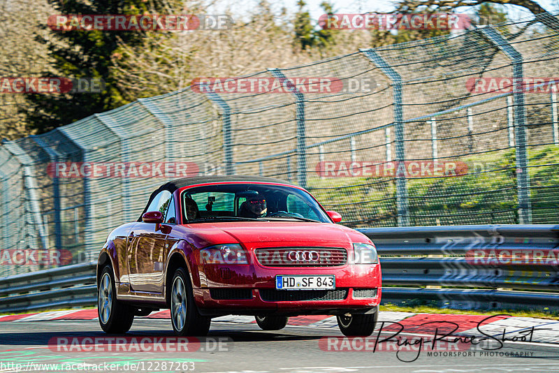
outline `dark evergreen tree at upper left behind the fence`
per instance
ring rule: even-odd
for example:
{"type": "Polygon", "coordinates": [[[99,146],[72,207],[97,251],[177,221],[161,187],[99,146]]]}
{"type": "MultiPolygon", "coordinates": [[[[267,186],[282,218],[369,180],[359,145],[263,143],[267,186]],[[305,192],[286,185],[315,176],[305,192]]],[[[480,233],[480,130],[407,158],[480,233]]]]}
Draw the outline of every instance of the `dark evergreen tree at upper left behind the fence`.
{"type": "MultiPolygon", "coordinates": [[[[164,0],[49,0],[61,15],[141,15],[159,13],[168,7],[164,0]]],[[[46,28],[46,26],[43,26],[46,28]]],[[[152,31],[73,30],[51,31],[49,38],[38,36],[54,58],[44,76],[101,79],[105,85],[99,93],[66,93],[30,95],[31,108],[25,110],[27,120],[38,133],[69,124],[96,112],[117,108],[128,101],[112,73],[112,61],[119,43],[140,45],[152,31]]]]}

